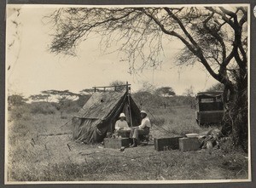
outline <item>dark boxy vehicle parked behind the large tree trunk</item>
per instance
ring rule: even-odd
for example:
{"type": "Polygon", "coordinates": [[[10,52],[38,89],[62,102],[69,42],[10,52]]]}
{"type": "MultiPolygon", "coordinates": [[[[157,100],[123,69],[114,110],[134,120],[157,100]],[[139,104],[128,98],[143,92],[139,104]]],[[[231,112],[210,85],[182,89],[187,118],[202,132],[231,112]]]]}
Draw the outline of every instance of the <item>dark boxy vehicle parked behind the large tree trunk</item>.
{"type": "Polygon", "coordinates": [[[200,92],[196,95],[195,119],[198,125],[220,123],[223,116],[223,92],[200,92]]]}

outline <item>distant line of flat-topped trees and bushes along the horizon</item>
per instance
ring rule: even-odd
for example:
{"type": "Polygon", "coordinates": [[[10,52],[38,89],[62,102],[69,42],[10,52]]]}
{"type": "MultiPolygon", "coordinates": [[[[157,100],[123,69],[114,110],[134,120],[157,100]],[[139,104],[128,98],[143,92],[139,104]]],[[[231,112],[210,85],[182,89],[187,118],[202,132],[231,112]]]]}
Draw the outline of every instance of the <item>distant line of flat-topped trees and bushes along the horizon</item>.
{"type": "MultiPolygon", "coordinates": [[[[125,82],[114,81],[109,85],[116,86],[114,90],[119,92],[125,90],[125,82]]],[[[221,84],[215,84],[208,88],[207,91],[222,90],[221,84]]],[[[96,91],[99,91],[98,89],[96,91]]],[[[57,111],[63,117],[64,112],[76,112],[90,99],[94,93],[93,88],[84,88],[79,94],[69,90],[44,90],[40,94],[32,94],[25,98],[22,94],[12,94],[8,97],[9,110],[14,106],[30,105],[32,113],[55,114],[57,111]],[[31,104],[27,101],[32,100],[31,104]]],[[[192,86],[185,89],[183,95],[177,95],[170,86],[156,88],[150,83],[143,83],[142,88],[133,92],[132,98],[140,108],[168,108],[172,106],[189,105],[195,107],[195,91],[192,86]]],[[[65,116],[64,116],[65,117],[65,116]]]]}

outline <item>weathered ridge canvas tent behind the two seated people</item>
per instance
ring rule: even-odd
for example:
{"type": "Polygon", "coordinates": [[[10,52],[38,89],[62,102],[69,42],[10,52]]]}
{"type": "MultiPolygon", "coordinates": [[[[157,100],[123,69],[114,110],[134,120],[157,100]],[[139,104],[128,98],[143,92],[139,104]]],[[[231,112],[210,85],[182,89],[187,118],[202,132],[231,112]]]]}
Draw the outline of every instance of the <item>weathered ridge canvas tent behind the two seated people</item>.
{"type": "Polygon", "coordinates": [[[139,125],[140,111],[127,92],[92,94],[90,100],[73,117],[73,140],[84,143],[101,142],[108,132],[113,132],[114,124],[121,112],[125,113],[126,121],[130,126],[139,125]]]}

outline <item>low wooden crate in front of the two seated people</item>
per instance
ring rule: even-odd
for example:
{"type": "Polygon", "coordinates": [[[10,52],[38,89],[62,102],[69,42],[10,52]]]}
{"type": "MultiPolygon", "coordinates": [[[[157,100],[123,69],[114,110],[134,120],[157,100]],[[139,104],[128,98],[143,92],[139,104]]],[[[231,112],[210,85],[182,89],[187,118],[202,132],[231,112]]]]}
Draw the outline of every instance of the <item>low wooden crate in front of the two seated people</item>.
{"type": "Polygon", "coordinates": [[[118,139],[104,139],[105,148],[120,149],[121,147],[129,147],[130,139],[118,138],[118,139]]]}

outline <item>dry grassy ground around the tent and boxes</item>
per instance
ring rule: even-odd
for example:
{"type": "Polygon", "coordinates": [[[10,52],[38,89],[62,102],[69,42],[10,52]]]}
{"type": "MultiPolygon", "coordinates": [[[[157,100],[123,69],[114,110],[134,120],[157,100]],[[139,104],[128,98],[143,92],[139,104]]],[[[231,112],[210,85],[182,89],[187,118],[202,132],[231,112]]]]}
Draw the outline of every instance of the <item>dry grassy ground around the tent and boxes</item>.
{"type": "MultiPolygon", "coordinates": [[[[125,151],[84,145],[72,140],[72,114],[31,116],[24,110],[9,118],[9,181],[247,179],[247,154],[227,142],[212,154],[201,151],[155,151],[153,141],[125,151]]],[[[200,133],[195,110],[155,109],[153,137],[200,133]],[[164,131],[165,130],[165,131],[164,131]]]]}

